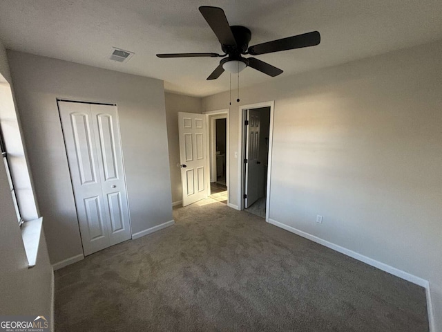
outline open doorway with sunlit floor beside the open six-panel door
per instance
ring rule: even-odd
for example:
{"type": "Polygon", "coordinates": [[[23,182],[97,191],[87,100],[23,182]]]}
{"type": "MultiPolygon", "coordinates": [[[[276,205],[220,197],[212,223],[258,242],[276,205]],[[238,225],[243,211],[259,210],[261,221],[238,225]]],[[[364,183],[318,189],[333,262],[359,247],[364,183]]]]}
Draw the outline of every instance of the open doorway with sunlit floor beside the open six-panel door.
{"type": "Polygon", "coordinates": [[[228,204],[229,113],[214,111],[206,114],[209,124],[210,197],[228,204]]]}

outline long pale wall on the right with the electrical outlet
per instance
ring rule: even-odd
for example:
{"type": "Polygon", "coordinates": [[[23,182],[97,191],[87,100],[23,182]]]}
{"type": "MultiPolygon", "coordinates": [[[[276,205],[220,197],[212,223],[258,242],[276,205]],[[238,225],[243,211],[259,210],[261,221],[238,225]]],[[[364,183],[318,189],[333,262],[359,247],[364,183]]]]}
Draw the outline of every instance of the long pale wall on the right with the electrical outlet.
{"type": "MultiPolygon", "coordinates": [[[[441,54],[436,42],[240,91],[240,104],[275,100],[270,218],[429,280],[436,331],[442,331],[441,54]]],[[[226,108],[229,93],[202,103],[204,111],[226,108]]],[[[230,126],[229,198],[238,205],[236,103],[230,126]]]]}

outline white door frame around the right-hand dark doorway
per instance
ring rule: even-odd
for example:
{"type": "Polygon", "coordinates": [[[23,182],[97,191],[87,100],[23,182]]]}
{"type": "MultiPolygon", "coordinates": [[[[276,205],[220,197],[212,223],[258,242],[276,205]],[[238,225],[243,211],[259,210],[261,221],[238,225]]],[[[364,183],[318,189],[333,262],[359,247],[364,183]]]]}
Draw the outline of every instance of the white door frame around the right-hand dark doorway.
{"type": "Polygon", "coordinates": [[[239,122],[238,122],[238,210],[244,210],[244,186],[245,186],[245,130],[244,121],[245,113],[248,109],[260,109],[262,107],[270,107],[270,124],[269,124],[269,160],[267,163],[267,193],[265,202],[265,221],[269,222],[270,215],[270,185],[271,185],[271,158],[273,151],[273,120],[275,111],[275,101],[258,102],[256,104],[242,105],[239,107],[239,122]]]}

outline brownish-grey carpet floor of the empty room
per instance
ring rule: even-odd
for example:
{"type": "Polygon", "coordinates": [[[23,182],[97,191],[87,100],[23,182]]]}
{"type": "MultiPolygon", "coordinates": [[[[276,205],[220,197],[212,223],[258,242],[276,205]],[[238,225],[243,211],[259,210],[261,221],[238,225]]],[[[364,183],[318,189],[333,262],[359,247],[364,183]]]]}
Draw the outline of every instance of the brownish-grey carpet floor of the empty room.
{"type": "Polygon", "coordinates": [[[206,199],[55,272],[55,331],[428,331],[425,290],[206,199]]]}

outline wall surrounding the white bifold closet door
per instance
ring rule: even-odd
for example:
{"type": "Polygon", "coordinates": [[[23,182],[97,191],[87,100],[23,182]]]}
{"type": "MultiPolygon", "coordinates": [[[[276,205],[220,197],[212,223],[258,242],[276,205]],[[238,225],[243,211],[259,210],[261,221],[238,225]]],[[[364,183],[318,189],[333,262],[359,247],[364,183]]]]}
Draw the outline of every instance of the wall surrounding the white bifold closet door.
{"type": "Polygon", "coordinates": [[[81,255],[56,98],[116,103],[132,233],[172,219],[160,80],[8,51],[50,261],[81,255]]]}

